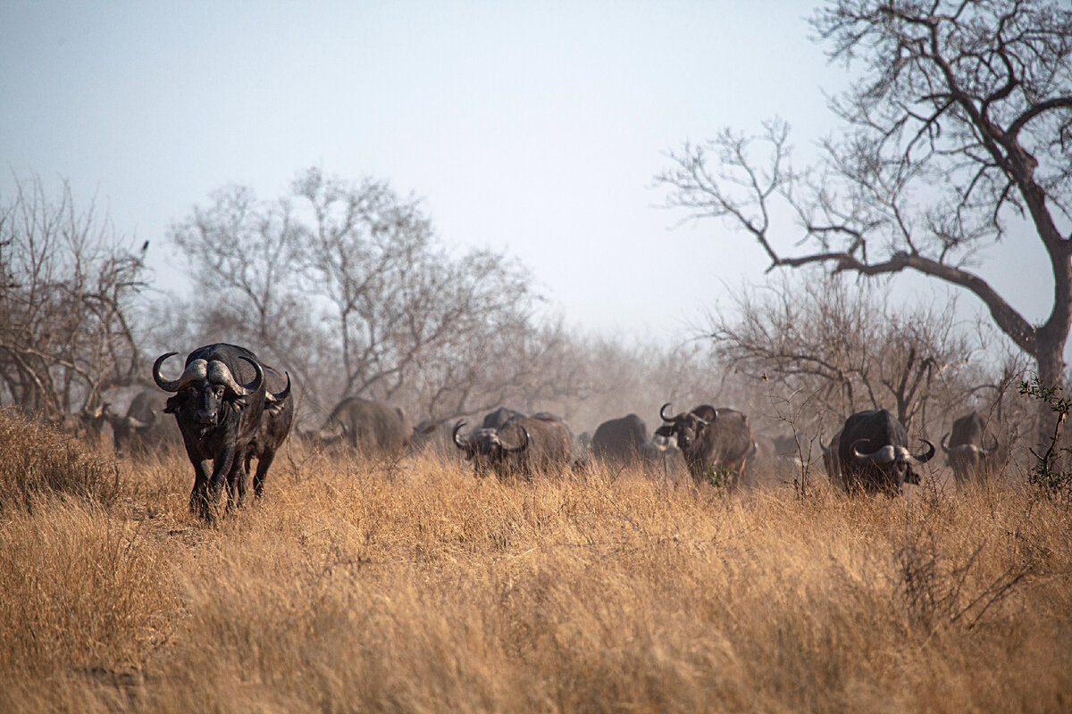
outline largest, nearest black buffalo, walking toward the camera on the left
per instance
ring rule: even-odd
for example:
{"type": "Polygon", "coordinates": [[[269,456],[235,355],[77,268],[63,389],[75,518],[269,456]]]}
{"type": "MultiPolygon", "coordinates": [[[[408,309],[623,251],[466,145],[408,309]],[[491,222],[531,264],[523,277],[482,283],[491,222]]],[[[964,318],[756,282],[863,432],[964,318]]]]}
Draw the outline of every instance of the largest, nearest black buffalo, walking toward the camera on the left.
{"type": "MultiPolygon", "coordinates": [[[[164,379],[161,367],[174,354],[178,352],[157,358],[152,378],[160,389],[174,393],[164,412],[175,414],[194,467],[190,508],[209,520],[224,485],[228,505],[241,505],[245,499],[245,454],[260,430],[265,371],[250,350],[217,344],[188,354],[178,379],[164,379]]],[[[271,399],[281,397],[286,394],[271,399]]]]}

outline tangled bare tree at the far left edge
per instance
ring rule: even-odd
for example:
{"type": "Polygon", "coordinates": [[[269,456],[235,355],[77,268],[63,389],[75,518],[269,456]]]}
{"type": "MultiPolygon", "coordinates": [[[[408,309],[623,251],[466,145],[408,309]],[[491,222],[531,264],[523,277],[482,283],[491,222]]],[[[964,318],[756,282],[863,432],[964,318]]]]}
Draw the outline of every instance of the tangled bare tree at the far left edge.
{"type": "Polygon", "coordinates": [[[50,199],[40,177],[16,177],[0,206],[0,396],[61,419],[135,381],[144,271],[142,253],[92,201],[76,207],[66,182],[50,199]]]}

